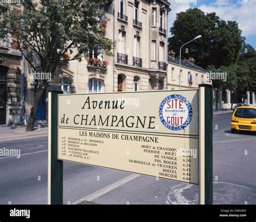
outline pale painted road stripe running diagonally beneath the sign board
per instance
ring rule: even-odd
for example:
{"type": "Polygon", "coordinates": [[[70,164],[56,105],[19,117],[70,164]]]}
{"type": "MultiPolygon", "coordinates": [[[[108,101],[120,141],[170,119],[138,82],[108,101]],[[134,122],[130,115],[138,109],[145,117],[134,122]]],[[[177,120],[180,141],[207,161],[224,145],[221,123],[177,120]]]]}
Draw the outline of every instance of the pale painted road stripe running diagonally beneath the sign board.
{"type": "Polygon", "coordinates": [[[105,188],[102,188],[100,190],[97,190],[97,191],[91,193],[90,195],[88,195],[86,197],[83,197],[79,200],[76,200],[75,202],[73,202],[71,204],[79,204],[79,203],[83,202],[84,200],[91,201],[93,199],[96,199],[96,198],[104,195],[105,193],[110,192],[111,190],[114,190],[114,189],[118,188],[119,186],[122,186],[123,184],[126,184],[126,183],[132,181],[133,179],[135,179],[139,176],[140,176],[139,174],[129,175],[129,176],[123,178],[123,179],[120,179],[117,182],[114,182],[114,183],[112,183],[108,186],[105,186],[105,188]]]}

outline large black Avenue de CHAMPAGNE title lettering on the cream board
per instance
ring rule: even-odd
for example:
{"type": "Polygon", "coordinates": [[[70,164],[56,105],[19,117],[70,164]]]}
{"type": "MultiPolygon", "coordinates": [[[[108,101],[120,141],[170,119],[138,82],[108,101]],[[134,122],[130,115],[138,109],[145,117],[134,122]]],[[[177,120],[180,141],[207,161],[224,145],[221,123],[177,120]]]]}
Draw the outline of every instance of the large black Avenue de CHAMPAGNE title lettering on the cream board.
{"type": "MultiPolygon", "coordinates": [[[[103,110],[110,110],[111,109],[120,109],[120,114],[124,113],[124,100],[106,100],[106,101],[96,101],[90,100],[90,96],[87,97],[85,100],[83,107],[81,109],[95,109],[97,112],[102,109],[103,110]]],[[[95,111],[95,113],[97,113],[95,111]]],[[[85,112],[86,113],[86,112],[85,112]]],[[[88,115],[88,114],[76,114],[73,117],[73,122],[76,125],[85,125],[85,126],[106,126],[106,127],[129,127],[129,128],[147,128],[147,129],[154,129],[154,120],[156,119],[155,116],[116,116],[116,115],[88,115]]],[[[65,114],[61,119],[62,124],[68,124],[69,118],[65,119],[65,114]]]]}

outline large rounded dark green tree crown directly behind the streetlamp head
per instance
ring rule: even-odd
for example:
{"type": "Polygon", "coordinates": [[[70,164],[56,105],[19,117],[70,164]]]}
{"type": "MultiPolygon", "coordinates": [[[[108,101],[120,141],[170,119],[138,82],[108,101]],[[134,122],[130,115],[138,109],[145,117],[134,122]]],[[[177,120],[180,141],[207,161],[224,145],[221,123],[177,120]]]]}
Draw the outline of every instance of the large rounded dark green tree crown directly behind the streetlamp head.
{"type": "Polygon", "coordinates": [[[244,42],[237,22],[225,22],[215,13],[205,14],[197,8],[177,13],[171,33],[169,49],[176,52],[181,45],[201,34],[202,38],[187,45],[188,53],[183,51],[181,58],[193,57],[203,68],[210,65],[219,68],[237,62],[244,42]]]}

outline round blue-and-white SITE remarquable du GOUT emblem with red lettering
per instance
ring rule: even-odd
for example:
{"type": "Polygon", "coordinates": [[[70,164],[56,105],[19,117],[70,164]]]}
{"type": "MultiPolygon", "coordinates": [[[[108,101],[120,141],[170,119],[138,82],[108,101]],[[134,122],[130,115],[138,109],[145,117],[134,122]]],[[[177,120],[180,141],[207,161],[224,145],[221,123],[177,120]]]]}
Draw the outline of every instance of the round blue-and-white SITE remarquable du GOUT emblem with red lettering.
{"type": "Polygon", "coordinates": [[[166,96],[159,106],[159,117],[170,130],[181,130],[190,124],[193,111],[190,102],[182,95],[166,96]]]}

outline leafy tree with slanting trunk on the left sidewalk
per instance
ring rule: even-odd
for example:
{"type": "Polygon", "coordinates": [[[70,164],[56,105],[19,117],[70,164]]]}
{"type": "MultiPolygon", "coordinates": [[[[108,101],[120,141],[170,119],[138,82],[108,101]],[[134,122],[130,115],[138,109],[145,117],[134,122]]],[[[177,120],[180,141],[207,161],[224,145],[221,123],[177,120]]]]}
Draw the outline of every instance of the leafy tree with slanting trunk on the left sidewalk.
{"type": "MultiPolygon", "coordinates": [[[[106,54],[111,54],[113,43],[104,37],[107,21],[99,6],[110,1],[104,0],[32,0],[22,1],[21,15],[12,13],[7,4],[1,5],[3,13],[0,22],[0,38],[12,34],[17,37],[17,49],[33,71],[48,73],[52,79],[57,67],[71,60],[81,61],[87,57],[90,48],[102,46],[106,54]],[[69,52],[70,57],[66,53],[69,52]],[[39,61],[35,63],[35,58],[39,61]]],[[[32,131],[38,102],[48,80],[36,80],[35,100],[32,104],[26,131],[32,131]]]]}

